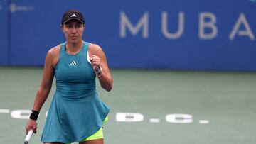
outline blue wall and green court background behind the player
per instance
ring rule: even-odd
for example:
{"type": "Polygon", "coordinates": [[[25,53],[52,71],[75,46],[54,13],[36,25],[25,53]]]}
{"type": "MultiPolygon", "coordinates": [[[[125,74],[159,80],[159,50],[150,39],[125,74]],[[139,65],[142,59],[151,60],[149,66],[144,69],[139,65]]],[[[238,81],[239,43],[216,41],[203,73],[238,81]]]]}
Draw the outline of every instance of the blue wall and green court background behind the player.
{"type": "MultiPolygon", "coordinates": [[[[23,143],[61,17],[85,16],[114,85],[105,143],[255,143],[256,1],[0,1],[0,142],[23,143]]],[[[52,91],[38,119],[39,143],[52,91]]]]}

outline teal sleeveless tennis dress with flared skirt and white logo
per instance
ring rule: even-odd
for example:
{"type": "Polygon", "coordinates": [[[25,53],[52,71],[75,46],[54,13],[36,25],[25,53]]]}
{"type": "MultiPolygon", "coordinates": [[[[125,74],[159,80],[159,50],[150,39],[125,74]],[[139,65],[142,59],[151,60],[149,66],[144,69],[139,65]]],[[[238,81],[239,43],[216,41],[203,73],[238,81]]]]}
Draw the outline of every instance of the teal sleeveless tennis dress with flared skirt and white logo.
{"type": "Polygon", "coordinates": [[[56,91],[51,101],[42,142],[79,142],[97,132],[110,108],[96,92],[95,72],[87,62],[88,44],[75,55],[60,48],[55,66],[56,91]]]}

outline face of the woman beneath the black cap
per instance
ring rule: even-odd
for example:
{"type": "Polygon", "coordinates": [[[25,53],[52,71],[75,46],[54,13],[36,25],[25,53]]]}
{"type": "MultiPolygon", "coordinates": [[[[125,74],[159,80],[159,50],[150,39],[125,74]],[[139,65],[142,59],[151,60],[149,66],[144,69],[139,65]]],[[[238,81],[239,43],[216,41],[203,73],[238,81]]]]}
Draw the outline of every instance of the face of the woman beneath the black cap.
{"type": "Polygon", "coordinates": [[[65,35],[65,39],[70,43],[78,43],[82,40],[82,33],[85,25],[76,20],[70,20],[61,27],[65,35]]]}

